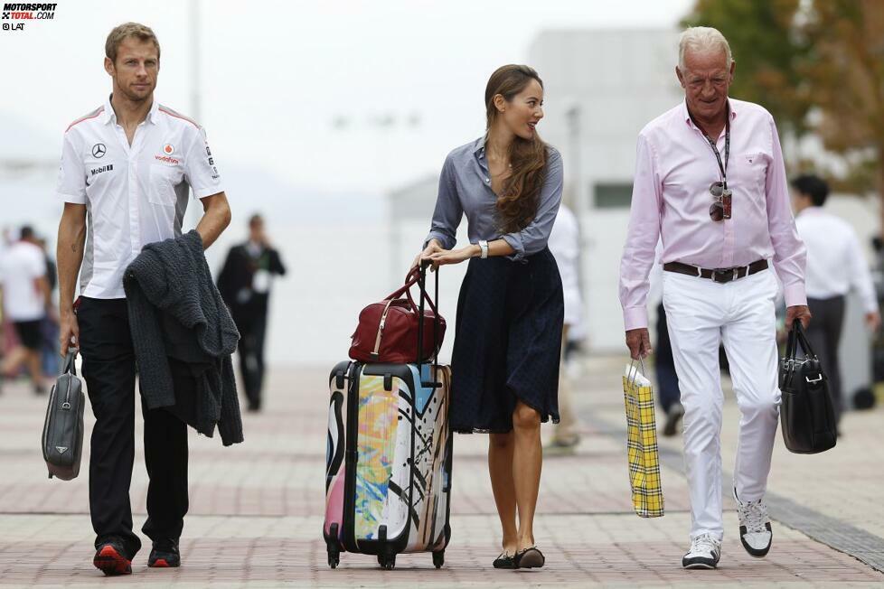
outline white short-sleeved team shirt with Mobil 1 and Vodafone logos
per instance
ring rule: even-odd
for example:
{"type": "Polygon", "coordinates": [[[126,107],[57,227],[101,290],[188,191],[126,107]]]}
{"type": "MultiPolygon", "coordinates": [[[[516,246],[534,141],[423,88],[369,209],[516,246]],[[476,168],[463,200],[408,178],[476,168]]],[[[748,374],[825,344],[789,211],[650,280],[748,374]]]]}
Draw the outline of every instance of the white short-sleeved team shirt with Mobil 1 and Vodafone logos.
{"type": "Polygon", "coordinates": [[[124,298],[123,271],[141,248],[181,235],[191,188],[199,199],[224,190],[205,131],[156,99],[131,146],[109,97],[71,123],[56,192],[87,209],[80,295],[124,298]]]}

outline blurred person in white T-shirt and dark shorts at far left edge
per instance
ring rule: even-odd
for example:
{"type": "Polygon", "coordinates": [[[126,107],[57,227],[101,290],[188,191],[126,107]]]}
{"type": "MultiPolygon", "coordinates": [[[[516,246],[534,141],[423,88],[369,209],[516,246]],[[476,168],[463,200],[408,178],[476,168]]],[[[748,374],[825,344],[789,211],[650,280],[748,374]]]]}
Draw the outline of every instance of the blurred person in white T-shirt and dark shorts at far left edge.
{"type": "Polygon", "coordinates": [[[40,326],[52,305],[52,291],[46,277],[46,260],[33,229],[25,225],[19,240],[5,249],[0,260],[0,288],[5,317],[12,322],[19,345],[0,366],[5,378],[14,376],[24,364],[31,374],[35,393],[45,392],[40,366],[40,326]]]}

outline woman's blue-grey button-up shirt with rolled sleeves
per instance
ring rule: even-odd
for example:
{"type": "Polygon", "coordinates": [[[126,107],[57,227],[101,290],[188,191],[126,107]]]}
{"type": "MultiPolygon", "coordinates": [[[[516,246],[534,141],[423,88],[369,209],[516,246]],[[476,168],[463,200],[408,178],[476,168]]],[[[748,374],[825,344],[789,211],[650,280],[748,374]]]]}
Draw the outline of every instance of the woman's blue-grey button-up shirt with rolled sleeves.
{"type": "Polygon", "coordinates": [[[457,147],[448,154],[439,176],[439,194],[433,224],[424,247],[436,238],[442,248],[455,247],[457,226],[466,213],[470,243],[503,238],[515,250],[512,260],[521,261],[546,248],[561,203],[561,155],[549,147],[546,179],[541,187],[537,216],[521,231],[502,234],[497,222],[497,195],[491,190],[491,173],[485,157],[485,138],[457,147]]]}

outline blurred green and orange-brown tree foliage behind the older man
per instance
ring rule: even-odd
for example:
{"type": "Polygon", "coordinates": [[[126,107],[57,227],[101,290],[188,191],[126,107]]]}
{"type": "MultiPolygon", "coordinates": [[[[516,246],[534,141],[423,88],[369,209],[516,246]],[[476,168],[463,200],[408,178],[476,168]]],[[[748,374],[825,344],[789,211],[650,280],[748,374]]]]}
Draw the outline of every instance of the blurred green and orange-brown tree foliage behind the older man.
{"type": "Polygon", "coordinates": [[[728,37],[735,97],[767,108],[781,133],[813,133],[841,156],[837,173],[823,169],[836,188],[884,198],[884,3],[698,0],[683,24],[728,37]]]}

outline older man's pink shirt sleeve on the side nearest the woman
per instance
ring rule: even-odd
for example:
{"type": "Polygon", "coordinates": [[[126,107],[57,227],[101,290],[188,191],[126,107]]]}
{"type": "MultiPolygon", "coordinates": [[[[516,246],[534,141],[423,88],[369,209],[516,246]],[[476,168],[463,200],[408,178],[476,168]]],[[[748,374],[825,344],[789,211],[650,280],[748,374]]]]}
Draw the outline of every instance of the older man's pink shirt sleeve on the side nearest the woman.
{"type": "Polygon", "coordinates": [[[648,275],[654,266],[654,249],[660,238],[663,190],[647,137],[638,136],[629,229],[620,258],[620,306],[625,331],[648,326],[648,275]]]}

